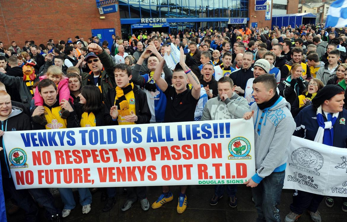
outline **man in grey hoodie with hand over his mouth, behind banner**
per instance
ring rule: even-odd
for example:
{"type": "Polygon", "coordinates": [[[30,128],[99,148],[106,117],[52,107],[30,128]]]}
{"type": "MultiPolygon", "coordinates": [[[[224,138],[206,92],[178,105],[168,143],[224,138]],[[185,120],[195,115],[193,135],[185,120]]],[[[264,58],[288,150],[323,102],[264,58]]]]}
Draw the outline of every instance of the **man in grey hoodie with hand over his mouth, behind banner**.
{"type": "MultiPolygon", "coordinates": [[[[248,102],[242,96],[234,92],[235,87],[229,76],[223,76],[218,80],[218,97],[209,99],[205,104],[201,120],[224,120],[242,118],[249,110],[248,102]]],[[[227,184],[229,196],[229,206],[236,207],[236,184],[227,184]]],[[[214,195],[210,201],[211,205],[216,205],[223,197],[224,185],[214,186],[214,195]]]]}

